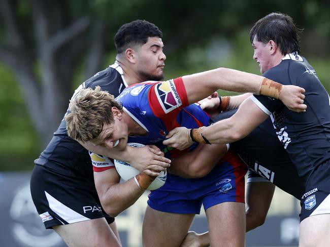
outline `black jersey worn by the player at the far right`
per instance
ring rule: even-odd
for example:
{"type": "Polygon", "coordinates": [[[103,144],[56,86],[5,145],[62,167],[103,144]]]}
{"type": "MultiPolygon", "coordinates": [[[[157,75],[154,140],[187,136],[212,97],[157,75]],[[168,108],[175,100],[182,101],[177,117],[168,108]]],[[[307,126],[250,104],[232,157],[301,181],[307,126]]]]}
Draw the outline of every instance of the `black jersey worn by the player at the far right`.
{"type": "Polygon", "coordinates": [[[304,57],[287,54],[281,63],[264,74],[283,85],[306,90],[305,113],[290,111],[277,99],[253,95],[251,99],[271,116],[276,135],[295,164],[298,174],[308,180],[320,164],[330,159],[330,98],[314,68],[304,57]]]}

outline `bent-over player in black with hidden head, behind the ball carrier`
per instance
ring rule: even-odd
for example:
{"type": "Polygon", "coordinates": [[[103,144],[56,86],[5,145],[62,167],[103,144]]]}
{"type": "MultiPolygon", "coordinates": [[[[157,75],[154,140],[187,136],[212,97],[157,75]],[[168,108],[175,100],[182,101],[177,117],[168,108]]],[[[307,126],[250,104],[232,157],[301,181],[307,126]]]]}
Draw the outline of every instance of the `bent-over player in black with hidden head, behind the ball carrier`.
{"type": "MultiPolygon", "coordinates": [[[[213,117],[210,124],[226,119],[235,114],[236,111],[237,109],[224,111],[213,117]]],[[[245,192],[246,231],[261,226],[265,222],[275,186],[299,200],[305,193],[303,178],[298,175],[294,164],[278,140],[270,118],[262,122],[243,139],[231,143],[230,149],[234,149],[249,168],[245,192]]],[[[201,156],[202,153],[197,156],[200,159],[198,166],[201,171],[196,171],[197,168],[195,167],[195,173],[205,172],[206,167],[208,167],[207,171],[212,169],[210,163],[203,161],[206,160],[206,157],[201,156]]],[[[189,173],[187,168],[180,170],[189,173]]],[[[208,232],[203,234],[188,232],[182,243],[182,247],[209,245],[208,232]]]]}

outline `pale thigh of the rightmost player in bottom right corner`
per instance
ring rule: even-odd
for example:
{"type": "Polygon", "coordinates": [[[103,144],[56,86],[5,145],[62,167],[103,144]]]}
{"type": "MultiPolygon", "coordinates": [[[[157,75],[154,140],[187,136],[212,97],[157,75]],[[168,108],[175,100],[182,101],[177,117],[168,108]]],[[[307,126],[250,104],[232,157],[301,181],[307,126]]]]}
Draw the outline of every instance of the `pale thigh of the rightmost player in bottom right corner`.
{"type": "Polygon", "coordinates": [[[300,223],[299,246],[330,246],[330,214],[307,217],[300,223]]]}

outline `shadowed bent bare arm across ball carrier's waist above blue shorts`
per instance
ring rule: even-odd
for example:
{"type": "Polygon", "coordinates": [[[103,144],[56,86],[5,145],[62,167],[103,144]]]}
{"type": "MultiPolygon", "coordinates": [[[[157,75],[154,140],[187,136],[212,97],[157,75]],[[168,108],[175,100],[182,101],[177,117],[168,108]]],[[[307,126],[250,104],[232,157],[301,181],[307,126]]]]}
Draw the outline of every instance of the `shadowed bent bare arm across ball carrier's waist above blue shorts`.
{"type": "Polygon", "coordinates": [[[172,158],[168,171],[182,178],[201,178],[212,171],[226,152],[226,145],[201,143],[192,152],[172,158]]]}

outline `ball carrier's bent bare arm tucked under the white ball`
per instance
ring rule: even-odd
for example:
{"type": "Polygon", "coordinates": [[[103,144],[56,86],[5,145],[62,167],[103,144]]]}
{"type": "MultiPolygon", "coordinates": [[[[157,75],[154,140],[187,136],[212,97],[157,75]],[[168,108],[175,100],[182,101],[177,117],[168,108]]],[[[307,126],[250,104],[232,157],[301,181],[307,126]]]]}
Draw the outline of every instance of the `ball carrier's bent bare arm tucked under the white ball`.
{"type": "Polygon", "coordinates": [[[112,217],[133,205],[144,192],[134,178],[119,183],[116,169],[94,172],[94,181],[102,207],[112,217]]]}

